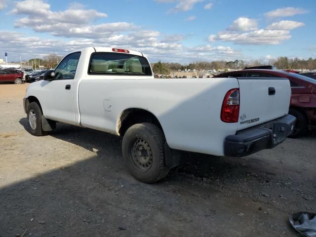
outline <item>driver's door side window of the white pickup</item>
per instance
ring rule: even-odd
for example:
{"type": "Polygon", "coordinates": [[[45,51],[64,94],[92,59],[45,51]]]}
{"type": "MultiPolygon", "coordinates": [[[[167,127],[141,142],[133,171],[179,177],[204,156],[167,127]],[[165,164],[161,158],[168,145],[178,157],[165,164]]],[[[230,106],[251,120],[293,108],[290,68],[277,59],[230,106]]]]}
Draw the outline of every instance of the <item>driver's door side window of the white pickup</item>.
{"type": "Polygon", "coordinates": [[[74,79],[80,52],[67,55],[56,67],[56,80],[74,79]]]}

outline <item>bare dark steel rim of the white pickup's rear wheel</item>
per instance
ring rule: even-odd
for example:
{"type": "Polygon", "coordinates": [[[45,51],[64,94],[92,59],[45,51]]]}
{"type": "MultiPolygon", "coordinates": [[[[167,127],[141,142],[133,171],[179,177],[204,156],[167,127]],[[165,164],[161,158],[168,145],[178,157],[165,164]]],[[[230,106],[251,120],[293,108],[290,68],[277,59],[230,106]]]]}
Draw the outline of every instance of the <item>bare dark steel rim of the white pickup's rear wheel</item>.
{"type": "Polygon", "coordinates": [[[133,165],[141,172],[148,171],[152,166],[152,149],[142,138],[136,138],[131,142],[130,156],[132,158],[133,165]]]}

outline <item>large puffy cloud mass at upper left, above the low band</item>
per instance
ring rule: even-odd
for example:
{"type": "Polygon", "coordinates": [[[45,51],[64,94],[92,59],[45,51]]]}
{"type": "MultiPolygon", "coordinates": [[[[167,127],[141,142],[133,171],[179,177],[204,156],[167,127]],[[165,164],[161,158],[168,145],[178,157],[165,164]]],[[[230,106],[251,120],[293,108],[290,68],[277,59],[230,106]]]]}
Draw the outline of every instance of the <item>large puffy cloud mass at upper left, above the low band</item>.
{"type": "Polygon", "coordinates": [[[68,38],[104,38],[112,36],[114,32],[132,32],[139,29],[128,22],[92,24],[93,20],[107,17],[107,14],[83,7],[82,4],[72,3],[64,11],[52,11],[50,5],[42,0],[24,0],[16,2],[11,13],[26,15],[15,21],[15,27],[30,27],[36,32],[68,38]],[[40,10],[37,9],[39,5],[40,10]]]}

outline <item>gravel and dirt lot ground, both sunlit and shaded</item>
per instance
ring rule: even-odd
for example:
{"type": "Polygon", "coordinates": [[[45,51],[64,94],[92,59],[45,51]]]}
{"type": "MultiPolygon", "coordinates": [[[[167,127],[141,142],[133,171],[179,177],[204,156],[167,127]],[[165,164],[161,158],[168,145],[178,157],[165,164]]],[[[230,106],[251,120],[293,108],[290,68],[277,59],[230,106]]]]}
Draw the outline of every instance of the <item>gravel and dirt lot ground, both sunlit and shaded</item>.
{"type": "Polygon", "coordinates": [[[161,182],[134,180],[121,139],[59,123],[25,127],[28,84],[0,84],[0,237],[299,236],[316,212],[316,133],[246,158],[182,153],[161,182]]]}

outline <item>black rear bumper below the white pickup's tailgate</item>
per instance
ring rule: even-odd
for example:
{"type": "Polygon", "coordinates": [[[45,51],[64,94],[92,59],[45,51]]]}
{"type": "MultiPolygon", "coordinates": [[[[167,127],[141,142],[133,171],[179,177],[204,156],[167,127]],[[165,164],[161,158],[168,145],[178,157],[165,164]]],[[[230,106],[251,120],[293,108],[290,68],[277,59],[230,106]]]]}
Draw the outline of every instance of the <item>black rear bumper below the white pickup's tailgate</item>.
{"type": "Polygon", "coordinates": [[[237,131],[225,138],[225,156],[244,157],[271,149],[282,143],[294,129],[296,118],[291,115],[237,131]]]}

